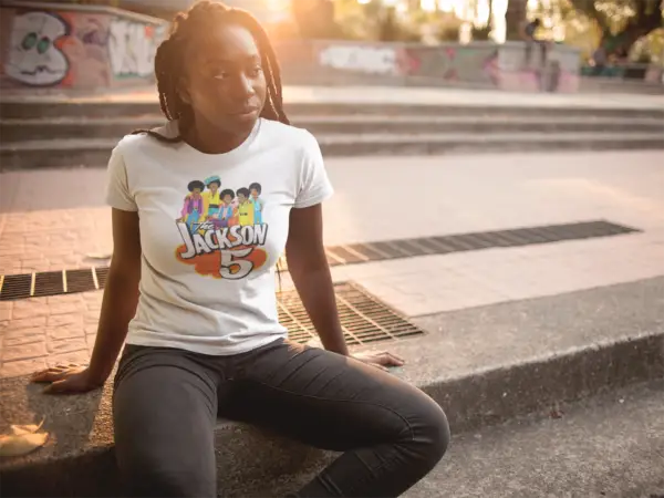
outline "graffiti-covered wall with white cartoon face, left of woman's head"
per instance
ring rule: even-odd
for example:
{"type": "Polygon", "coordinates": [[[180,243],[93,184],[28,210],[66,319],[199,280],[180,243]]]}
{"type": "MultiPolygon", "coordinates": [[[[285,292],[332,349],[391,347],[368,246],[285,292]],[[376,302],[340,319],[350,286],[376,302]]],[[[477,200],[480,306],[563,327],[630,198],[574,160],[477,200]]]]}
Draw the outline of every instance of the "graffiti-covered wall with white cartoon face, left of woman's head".
{"type": "Polygon", "coordinates": [[[0,8],[0,89],[97,89],[152,80],[166,25],[96,8],[0,8]]]}

